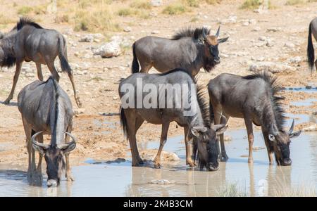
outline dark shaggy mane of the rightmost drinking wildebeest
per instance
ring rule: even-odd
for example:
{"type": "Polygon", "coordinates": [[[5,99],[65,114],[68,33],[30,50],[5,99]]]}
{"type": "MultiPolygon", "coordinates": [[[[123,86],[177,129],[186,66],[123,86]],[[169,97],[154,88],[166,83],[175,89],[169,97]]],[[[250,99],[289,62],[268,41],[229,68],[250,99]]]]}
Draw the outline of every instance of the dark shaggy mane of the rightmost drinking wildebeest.
{"type": "MultiPolygon", "coordinates": [[[[282,100],[284,100],[284,97],[278,95],[280,91],[282,91],[282,86],[278,83],[277,79],[278,77],[273,77],[271,75],[268,75],[268,72],[256,72],[253,75],[247,75],[242,77],[243,79],[263,79],[266,84],[268,84],[268,87],[271,89],[271,105],[273,107],[273,113],[275,117],[275,122],[277,124],[278,130],[284,131],[284,125],[285,125],[285,110],[282,107],[282,100]]],[[[263,115],[269,114],[269,108],[270,106],[265,106],[265,110],[263,110],[263,115]]],[[[263,116],[263,120],[267,120],[265,116],[263,116]]],[[[267,122],[268,124],[269,122],[267,122]]]]}

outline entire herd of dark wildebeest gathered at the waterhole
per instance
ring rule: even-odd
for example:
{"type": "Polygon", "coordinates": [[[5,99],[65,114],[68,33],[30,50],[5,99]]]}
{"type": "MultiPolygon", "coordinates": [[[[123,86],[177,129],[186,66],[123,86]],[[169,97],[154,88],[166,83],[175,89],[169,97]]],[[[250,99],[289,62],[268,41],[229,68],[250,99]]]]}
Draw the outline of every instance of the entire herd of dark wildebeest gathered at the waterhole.
{"type": "MultiPolygon", "coordinates": [[[[256,124],[261,126],[270,165],[273,164],[273,154],[277,165],[291,165],[290,139],[299,136],[300,131],[293,132],[294,120],[290,129],[285,129],[283,98],[278,94],[281,87],[276,77],[267,72],[244,77],[221,74],[210,80],[207,87],[209,97],[205,94],[206,87],[197,85],[195,76],[201,68],[210,72],[220,63],[218,45],[227,41],[228,37],[219,39],[219,34],[220,27],[215,35],[206,27],[188,28],[171,39],[143,37],[132,45],[132,75],[122,79],[118,87],[120,122],[130,141],[132,166],[143,164],[137,149],[136,133],[144,121],[162,125],[159,151],[154,158],[156,168],[161,167],[161,152],[170,122],[177,122],[184,128],[186,164],[189,167],[198,165],[199,170],[218,170],[218,162],[228,160],[223,134],[229,117],[244,118],[249,162],[253,162],[252,125],[256,124]],[[148,74],[152,67],[162,73],[148,74]],[[172,89],[168,92],[161,85],[182,86],[179,86],[179,91],[172,89]],[[125,89],[127,87],[131,89],[125,89]],[[149,97],[152,89],[156,89],[156,94],[149,97]],[[133,92],[128,93],[131,90],[133,92]],[[146,99],[150,106],[140,103],[146,99]],[[185,106],[185,101],[189,102],[190,108],[185,106]],[[156,106],[153,106],[154,102],[156,106]],[[128,103],[130,107],[123,103],[128,103]],[[192,108],[196,108],[194,113],[188,111],[192,108]]],[[[313,70],[313,63],[317,69],[317,60],[314,58],[311,34],[317,40],[317,18],[309,25],[307,46],[307,61],[310,70],[313,70]]],[[[28,18],[20,18],[13,30],[0,34],[1,67],[16,65],[13,86],[5,104],[13,98],[23,61],[33,61],[37,67],[39,80],[28,84],[18,94],[18,110],[27,140],[27,178],[30,184],[42,184],[43,156],[47,186],[58,186],[63,172],[68,181],[73,180],[69,165],[69,153],[76,146],[76,139],[71,134],[73,106],[68,94],[58,85],[59,75],[54,67],[56,56],[61,61],[61,70],[68,73],[75,102],[80,107],[82,104],[75,89],[73,70],[68,64],[66,39],[61,33],[44,29],[28,18]],[[51,72],[51,77],[46,81],[42,76],[42,64],[47,65],[51,72]],[[51,135],[51,143],[43,143],[44,134],[51,135]],[[36,151],[39,152],[37,165],[36,151]]]]}

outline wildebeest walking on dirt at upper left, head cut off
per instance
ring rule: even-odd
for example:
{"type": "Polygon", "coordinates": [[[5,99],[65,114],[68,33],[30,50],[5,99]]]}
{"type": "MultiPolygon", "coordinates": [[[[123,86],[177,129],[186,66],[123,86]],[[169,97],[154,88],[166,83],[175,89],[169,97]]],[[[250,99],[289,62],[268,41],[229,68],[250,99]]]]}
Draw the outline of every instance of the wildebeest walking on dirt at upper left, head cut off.
{"type": "Polygon", "coordinates": [[[77,106],[80,107],[81,103],[75,88],[73,70],[68,64],[65,38],[56,30],[44,29],[27,18],[20,18],[13,30],[4,34],[0,39],[0,66],[11,67],[16,64],[13,86],[4,103],[10,103],[13,98],[23,61],[30,62],[32,60],[36,63],[37,77],[40,81],[43,80],[41,64],[47,65],[51,75],[58,82],[59,75],[54,66],[56,56],[61,61],[63,72],[68,73],[73,85],[75,101],[77,106]]]}

